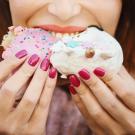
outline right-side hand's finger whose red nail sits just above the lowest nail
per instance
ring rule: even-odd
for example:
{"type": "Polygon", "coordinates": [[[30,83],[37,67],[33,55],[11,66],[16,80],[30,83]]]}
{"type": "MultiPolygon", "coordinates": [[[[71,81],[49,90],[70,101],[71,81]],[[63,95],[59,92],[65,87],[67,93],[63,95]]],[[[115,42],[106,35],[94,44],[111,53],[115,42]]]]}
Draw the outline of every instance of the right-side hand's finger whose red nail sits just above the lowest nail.
{"type": "Polygon", "coordinates": [[[104,111],[104,109],[97,102],[96,98],[90,92],[89,88],[75,75],[70,76],[69,79],[87,108],[88,113],[93,117],[96,123],[98,123],[98,125],[100,125],[103,130],[108,133],[118,134],[121,132],[121,127],[108,115],[108,113],[104,111]]]}

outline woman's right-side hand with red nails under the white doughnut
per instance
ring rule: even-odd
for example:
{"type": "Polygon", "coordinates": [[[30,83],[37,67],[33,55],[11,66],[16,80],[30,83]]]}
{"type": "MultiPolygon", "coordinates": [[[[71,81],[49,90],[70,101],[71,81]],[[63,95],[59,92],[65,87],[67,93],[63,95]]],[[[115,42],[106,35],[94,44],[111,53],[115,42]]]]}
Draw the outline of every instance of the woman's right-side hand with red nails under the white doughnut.
{"type": "Polygon", "coordinates": [[[73,99],[97,135],[135,135],[135,80],[124,67],[118,74],[96,68],[71,75],[73,99]]]}

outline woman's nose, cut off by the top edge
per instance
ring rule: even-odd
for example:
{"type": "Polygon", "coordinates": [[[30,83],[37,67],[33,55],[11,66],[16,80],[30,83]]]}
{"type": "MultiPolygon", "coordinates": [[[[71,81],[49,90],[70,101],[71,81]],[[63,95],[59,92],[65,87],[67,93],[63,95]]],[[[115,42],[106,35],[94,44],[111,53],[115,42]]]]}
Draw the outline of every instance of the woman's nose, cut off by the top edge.
{"type": "Polygon", "coordinates": [[[48,5],[48,12],[62,21],[67,21],[80,13],[81,6],[73,0],[53,0],[48,5]]]}

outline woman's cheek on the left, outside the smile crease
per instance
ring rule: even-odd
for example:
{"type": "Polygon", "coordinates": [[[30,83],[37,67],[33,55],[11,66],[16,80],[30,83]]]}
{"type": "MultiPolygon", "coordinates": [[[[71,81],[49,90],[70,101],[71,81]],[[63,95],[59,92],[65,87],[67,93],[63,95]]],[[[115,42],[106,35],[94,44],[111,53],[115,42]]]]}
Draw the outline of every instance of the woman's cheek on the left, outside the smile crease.
{"type": "Polygon", "coordinates": [[[25,24],[27,19],[43,4],[45,1],[37,0],[9,0],[13,24],[25,24]]]}

